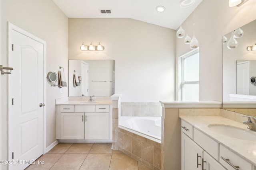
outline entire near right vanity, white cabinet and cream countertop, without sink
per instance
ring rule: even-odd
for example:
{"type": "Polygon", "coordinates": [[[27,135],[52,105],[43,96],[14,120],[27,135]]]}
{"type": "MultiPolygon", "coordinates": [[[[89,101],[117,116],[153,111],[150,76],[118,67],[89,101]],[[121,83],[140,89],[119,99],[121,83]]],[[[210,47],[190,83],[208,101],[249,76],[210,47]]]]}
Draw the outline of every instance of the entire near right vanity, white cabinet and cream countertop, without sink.
{"type": "Polygon", "coordinates": [[[238,122],[219,116],[181,119],[182,170],[255,170],[255,141],[232,139],[208,128],[209,124],[235,126],[238,122]]]}

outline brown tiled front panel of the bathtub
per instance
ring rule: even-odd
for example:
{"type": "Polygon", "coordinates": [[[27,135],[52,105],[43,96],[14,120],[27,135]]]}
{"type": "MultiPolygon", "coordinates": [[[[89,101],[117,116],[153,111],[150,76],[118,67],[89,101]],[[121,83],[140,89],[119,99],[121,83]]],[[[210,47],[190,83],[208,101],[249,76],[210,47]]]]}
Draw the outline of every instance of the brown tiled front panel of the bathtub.
{"type": "Polygon", "coordinates": [[[154,170],[161,169],[161,144],[118,128],[118,150],[154,170]]]}

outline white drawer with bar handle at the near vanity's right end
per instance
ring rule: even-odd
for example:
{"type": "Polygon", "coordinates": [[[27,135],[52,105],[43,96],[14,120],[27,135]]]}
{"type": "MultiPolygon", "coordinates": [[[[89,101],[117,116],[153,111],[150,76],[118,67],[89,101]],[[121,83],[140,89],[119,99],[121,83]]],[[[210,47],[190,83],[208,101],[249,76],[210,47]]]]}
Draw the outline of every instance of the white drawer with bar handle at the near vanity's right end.
{"type": "Polygon", "coordinates": [[[228,170],[235,169],[232,165],[239,166],[239,170],[252,170],[252,164],[222,145],[220,145],[220,163],[228,170]]]}

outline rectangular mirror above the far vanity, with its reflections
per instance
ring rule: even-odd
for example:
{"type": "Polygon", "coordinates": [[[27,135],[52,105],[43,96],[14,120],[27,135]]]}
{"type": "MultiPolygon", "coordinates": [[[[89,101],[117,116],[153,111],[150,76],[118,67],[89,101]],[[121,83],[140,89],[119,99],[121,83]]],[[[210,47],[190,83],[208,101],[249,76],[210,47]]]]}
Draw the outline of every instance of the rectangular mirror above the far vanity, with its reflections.
{"type": "Polygon", "coordinates": [[[68,96],[114,94],[114,60],[69,60],[68,96]]]}

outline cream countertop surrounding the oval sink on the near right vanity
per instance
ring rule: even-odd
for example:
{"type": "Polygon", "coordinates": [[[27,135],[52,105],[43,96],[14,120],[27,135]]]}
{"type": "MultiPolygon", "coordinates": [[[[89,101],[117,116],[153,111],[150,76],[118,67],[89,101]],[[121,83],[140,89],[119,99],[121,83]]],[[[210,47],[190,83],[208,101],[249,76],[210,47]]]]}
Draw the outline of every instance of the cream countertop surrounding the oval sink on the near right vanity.
{"type": "Polygon", "coordinates": [[[247,125],[221,116],[180,116],[180,118],[256,166],[256,141],[235,139],[216,133],[208,128],[209,124],[222,124],[238,127],[256,135],[256,132],[247,129],[247,125]]]}

